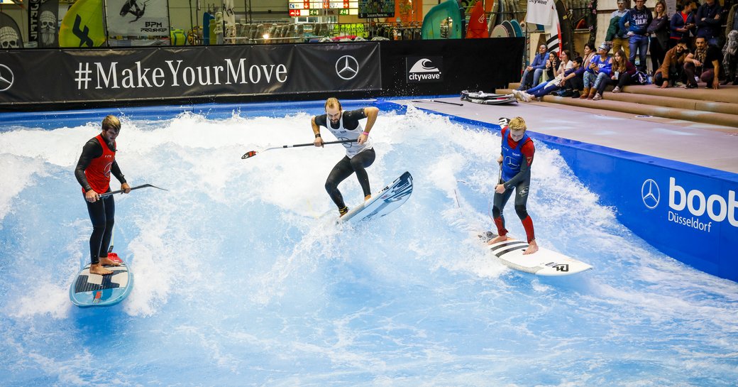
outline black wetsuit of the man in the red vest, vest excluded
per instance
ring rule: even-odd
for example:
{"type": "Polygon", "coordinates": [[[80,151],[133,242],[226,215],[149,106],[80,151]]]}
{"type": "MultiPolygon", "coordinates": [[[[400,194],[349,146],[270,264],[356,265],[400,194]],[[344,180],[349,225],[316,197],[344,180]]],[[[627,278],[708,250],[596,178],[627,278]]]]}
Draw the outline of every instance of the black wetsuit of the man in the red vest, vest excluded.
{"type": "MultiPolygon", "coordinates": [[[[115,151],[113,146],[110,144],[108,144],[108,148],[111,151],[115,151]]],[[[97,137],[89,140],[82,148],[80,160],[77,161],[77,168],[75,168],[75,177],[85,192],[92,190],[89,182],[87,182],[85,170],[93,159],[97,159],[101,156],[103,156],[103,147],[100,145],[100,142],[97,141],[97,137]]],[[[121,184],[125,182],[125,177],[123,177],[123,173],[120,171],[120,167],[118,167],[117,162],[113,162],[110,172],[116,177],[116,179],[118,179],[118,181],[120,181],[121,184]]],[[[108,191],[110,191],[109,188],[108,191]]],[[[94,203],[85,200],[85,203],[87,204],[87,213],[89,213],[90,220],[92,221],[90,261],[92,264],[98,264],[100,263],[100,257],[108,256],[108,246],[110,245],[113,225],[115,223],[115,201],[111,195],[107,196],[105,199],[97,200],[94,203]]]]}

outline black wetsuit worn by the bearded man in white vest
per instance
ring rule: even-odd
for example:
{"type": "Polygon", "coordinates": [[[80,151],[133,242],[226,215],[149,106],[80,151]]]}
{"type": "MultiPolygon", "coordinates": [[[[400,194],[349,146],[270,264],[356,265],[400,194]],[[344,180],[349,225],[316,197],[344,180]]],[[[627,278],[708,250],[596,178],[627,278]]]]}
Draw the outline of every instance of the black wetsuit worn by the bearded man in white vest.
{"type": "MultiPolygon", "coordinates": [[[[359,134],[362,134],[362,129],[359,126],[359,120],[362,120],[366,117],[367,116],[366,114],[364,114],[364,109],[356,109],[343,112],[343,129],[351,131],[350,136],[352,138],[359,137],[359,134]],[[354,131],[356,132],[354,133],[354,131]]],[[[325,126],[329,130],[338,129],[340,127],[340,122],[336,123],[335,125],[333,123],[330,123],[331,126],[329,127],[327,114],[316,116],[315,123],[318,126],[325,126]]],[[[348,147],[351,146],[356,145],[348,144],[348,147]]],[[[351,176],[351,174],[353,173],[356,173],[356,179],[359,179],[359,185],[362,186],[364,196],[371,194],[371,189],[369,186],[369,176],[364,168],[368,168],[370,165],[372,165],[375,159],[376,153],[374,152],[374,148],[368,148],[359,151],[359,153],[355,154],[354,157],[349,158],[348,155],[344,156],[333,167],[331,173],[328,174],[328,179],[325,180],[325,191],[328,191],[328,195],[331,196],[331,199],[334,203],[336,203],[339,209],[345,208],[346,205],[343,202],[341,191],[338,190],[338,185],[340,182],[351,176]]]]}

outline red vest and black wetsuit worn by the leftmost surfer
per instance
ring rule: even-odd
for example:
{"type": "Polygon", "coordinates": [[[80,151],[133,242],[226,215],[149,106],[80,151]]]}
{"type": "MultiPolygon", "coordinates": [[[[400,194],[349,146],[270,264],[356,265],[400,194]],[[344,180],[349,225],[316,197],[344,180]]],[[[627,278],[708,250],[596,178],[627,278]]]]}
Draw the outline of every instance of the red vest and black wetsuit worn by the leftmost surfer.
{"type": "MultiPolygon", "coordinates": [[[[75,168],[75,177],[82,187],[83,194],[90,190],[97,193],[110,191],[110,174],[113,174],[121,184],[125,182],[125,177],[115,161],[115,151],[115,143],[106,143],[102,134],[90,139],[84,145],[75,168]]],[[[94,203],[85,202],[92,221],[90,261],[92,264],[98,264],[100,257],[108,256],[108,246],[115,223],[115,202],[112,195],[94,203]]]]}

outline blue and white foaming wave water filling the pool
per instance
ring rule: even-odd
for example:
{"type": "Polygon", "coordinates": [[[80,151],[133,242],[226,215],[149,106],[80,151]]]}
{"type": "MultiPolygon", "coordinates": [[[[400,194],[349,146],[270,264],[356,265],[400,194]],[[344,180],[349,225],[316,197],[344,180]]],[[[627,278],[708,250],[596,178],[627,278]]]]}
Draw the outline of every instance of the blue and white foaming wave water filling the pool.
{"type": "MultiPolygon", "coordinates": [[[[500,146],[487,129],[382,112],[373,191],[406,170],[415,191],[351,228],[333,225],[323,189],[340,145],[241,160],[311,142],[320,104],[159,109],[1,122],[1,386],[737,384],[738,284],[638,239],[542,143],[539,245],[589,272],[514,272],[478,242],[500,146]],[[92,227],[72,171],[111,113],[131,185],[170,191],[116,197],[134,291],[78,309],[69,284],[92,227]]],[[[361,201],[354,177],[341,188],[361,201]]]]}

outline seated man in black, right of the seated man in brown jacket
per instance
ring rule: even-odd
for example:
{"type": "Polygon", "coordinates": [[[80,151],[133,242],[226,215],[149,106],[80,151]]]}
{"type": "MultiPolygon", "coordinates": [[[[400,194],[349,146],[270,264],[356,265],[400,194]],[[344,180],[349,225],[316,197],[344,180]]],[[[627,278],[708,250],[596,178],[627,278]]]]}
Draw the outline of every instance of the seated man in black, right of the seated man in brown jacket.
{"type": "Polygon", "coordinates": [[[685,89],[694,89],[697,87],[697,77],[699,74],[700,81],[707,83],[706,88],[720,89],[720,62],[723,61],[723,53],[715,46],[708,46],[707,39],[703,36],[697,36],[694,41],[697,46],[694,52],[690,52],[684,59],[684,73],[687,78],[685,89]]]}

